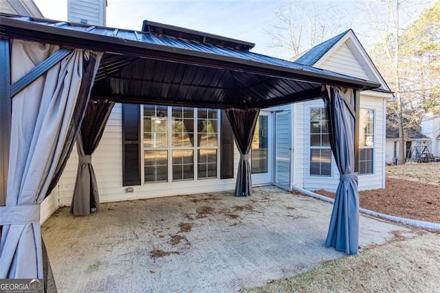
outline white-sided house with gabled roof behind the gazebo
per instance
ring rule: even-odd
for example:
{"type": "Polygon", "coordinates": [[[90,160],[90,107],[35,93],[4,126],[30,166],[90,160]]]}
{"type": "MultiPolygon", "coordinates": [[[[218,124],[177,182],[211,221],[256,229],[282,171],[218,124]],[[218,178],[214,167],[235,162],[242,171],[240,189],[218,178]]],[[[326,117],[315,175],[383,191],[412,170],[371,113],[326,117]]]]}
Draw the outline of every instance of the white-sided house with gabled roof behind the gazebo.
{"type": "MultiPolygon", "coordinates": [[[[354,32],[317,45],[297,62],[380,83],[380,89],[360,94],[359,188],[384,188],[384,113],[393,94],[354,32]]],[[[233,190],[240,154],[225,121],[217,109],[117,103],[93,156],[100,201],[233,190]],[[124,142],[126,133],[135,133],[139,149],[124,142]]],[[[250,157],[254,186],[328,191],[338,186],[322,100],[262,110],[250,157]]],[[[71,204],[77,165],[74,149],[42,215],[71,204]]]]}

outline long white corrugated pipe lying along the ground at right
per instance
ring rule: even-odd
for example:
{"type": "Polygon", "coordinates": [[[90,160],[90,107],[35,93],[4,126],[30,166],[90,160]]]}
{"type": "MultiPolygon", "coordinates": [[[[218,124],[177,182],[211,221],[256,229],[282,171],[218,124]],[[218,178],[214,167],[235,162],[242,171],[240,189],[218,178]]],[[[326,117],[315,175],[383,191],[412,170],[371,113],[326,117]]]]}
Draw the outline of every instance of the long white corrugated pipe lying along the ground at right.
{"type": "MultiPolygon", "coordinates": [[[[307,191],[307,189],[301,188],[296,185],[292,185],[292,188],[295,191],[298,191],[298,193],[302,193],[303,195],[308,195],[309,197],[314,197],[314,198],[323,200],[324,202],[330,202],[331,204],[333,204],[333,202],[335,202],[334,199],[331,199],[331,198],[326,197],[324,195],[318,195],[318,193],[314,193],[312,191],[307,191]]],[[[360,208],[359,211],[361,213],[366,214],[366,215],[380,217],[382,219],[387,219],[389,221],[395,221],[397,223],[406,224],[406,225],[413,226],[413,227],[419,227],[419,228],[440,231],[440,223],[434,223],[431,221],[419,221],[419,220],[415,220],[415,219],[408,219],[408,218],[404,218],[404,217],[397,217],[397,216],[393,216],[393,215],[377,213],[374,210],[367,210],[366,208],[360,208]]]]}

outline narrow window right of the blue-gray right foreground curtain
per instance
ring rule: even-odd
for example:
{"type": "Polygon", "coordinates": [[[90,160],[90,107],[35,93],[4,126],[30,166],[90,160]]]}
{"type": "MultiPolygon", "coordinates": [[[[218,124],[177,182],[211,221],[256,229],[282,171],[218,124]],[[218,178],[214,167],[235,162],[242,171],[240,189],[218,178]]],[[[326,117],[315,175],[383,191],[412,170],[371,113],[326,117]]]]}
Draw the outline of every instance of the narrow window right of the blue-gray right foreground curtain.
{"type": "Polygon", "coordinates": [[[359,174],[373,174],[374,110],[360,109],[359,174]]]}

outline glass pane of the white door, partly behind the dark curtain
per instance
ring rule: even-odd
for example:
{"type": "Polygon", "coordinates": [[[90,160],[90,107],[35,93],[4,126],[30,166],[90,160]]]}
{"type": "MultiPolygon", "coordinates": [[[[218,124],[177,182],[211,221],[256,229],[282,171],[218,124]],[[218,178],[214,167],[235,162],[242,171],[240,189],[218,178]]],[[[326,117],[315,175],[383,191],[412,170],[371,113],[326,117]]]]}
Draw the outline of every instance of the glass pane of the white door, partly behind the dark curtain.
{"type": "Polygon", "coordinates": [[[267,115],[259,116],[256,122],[254,139],[252,140],[251,156],[251,170],[252,174],[267,173],[267,144],[269,137],[268,133],[268,119],[267,115]]]}

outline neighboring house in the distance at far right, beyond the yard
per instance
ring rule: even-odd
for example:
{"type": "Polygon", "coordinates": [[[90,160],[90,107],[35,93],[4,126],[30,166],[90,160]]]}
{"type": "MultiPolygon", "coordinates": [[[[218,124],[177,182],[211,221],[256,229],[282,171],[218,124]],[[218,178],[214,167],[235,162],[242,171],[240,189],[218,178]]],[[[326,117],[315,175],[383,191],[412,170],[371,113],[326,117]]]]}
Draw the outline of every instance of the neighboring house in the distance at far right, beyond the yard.
{"type": "MultiPolygon", "coordinates": [[[[412,159],[417,162],[423,146],[427,146],[430,142],[430,138],[417,131],[417,129],[406,129],[404,140],[404,152],[406,161],[412,159]]],[[[386,164],[397,164],[397,158],[399,157],[400,142],[399,142],[399,129],[386,125],[386,164]]]]}

